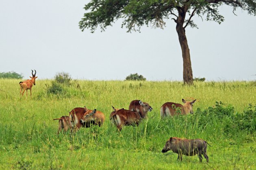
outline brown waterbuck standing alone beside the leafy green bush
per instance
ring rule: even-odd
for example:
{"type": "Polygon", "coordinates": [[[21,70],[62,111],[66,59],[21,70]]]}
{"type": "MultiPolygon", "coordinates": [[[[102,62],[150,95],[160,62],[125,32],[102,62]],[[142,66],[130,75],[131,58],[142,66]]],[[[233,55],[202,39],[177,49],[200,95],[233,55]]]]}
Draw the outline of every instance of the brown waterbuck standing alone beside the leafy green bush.
{"type": "Polygon", "coordinates": [[[160,109],[161,117],[174,116],[178,114],[187,115],[188,113],[193,114],[194,112],[192,107],[195,100],[192,102],[187,102],[186,100],[182,99],[182,102],[184,103],[183,105],[173,102],[166,102],[163,104],[160,109]],[[180,113],[177,112],[178,107],[180,108],[180,113]]]}

